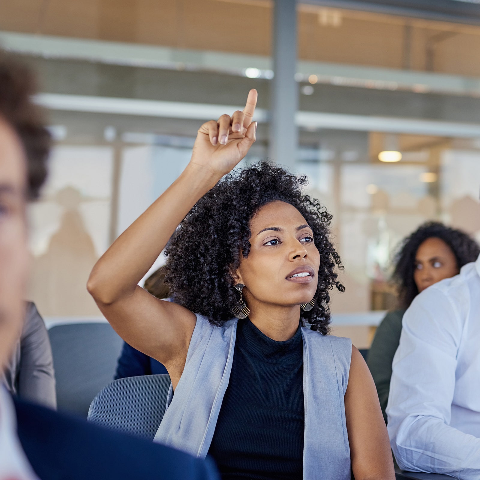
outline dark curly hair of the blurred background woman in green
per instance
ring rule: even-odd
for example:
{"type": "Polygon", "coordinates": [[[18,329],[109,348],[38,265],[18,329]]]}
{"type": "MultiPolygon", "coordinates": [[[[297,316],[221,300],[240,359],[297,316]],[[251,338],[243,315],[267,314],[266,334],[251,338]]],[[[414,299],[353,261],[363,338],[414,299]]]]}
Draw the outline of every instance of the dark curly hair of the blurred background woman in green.
{"type": "Polygon", "coordinates": [[[392,280],[398,286],[399,302],[402,308],[408,308],[419,291],[413,275],[415,256],[420,245],[429,238],[443,240],[452,250],[457,267],[475,262],[480,253],[478,243],[468,234],[440,222],[427,222],[402,241],[395,256],[395,270],[392,280]]]}

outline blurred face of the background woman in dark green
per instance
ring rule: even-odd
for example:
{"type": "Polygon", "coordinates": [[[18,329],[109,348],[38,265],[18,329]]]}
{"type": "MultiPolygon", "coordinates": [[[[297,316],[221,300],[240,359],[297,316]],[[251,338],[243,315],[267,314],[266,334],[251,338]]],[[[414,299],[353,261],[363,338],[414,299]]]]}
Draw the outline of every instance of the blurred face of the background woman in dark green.
{"type": "Polygon", "coordinates": [[[455,276],[458,271],[455,255],[443,240],[431,237],[420,244],[413,274],[419,292],[444,278],[455,276]]]}

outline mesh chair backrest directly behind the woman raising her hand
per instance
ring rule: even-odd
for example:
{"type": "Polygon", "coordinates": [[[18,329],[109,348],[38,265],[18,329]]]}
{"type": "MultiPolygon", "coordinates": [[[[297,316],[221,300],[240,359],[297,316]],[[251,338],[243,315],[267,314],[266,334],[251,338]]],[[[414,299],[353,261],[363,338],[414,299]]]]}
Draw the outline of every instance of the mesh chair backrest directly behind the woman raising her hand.
{"type": "Polygon", "coordinates": [[[166,373],[115,380],[94,398],[88,421],[153,440],[165,413],[169,386],[166,373]]]}

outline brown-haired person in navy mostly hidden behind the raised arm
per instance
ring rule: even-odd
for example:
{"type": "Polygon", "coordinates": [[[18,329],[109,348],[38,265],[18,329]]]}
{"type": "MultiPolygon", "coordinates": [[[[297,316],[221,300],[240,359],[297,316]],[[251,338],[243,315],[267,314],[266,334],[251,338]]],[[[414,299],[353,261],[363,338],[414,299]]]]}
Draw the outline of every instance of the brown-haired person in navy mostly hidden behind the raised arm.
{"type": "MultiPolygon", "coordinates": [[[[165,283],[165,266],[161,266],[144,283],[144,289],[160,300],[167,300],[170,297],[170,289],[165,283]]],[[[127,342],[123,342],[115,380],[138,375],[155,375],[168,373],[167,369],[158,361],[141,351],[133,348],[127,342]]]]}

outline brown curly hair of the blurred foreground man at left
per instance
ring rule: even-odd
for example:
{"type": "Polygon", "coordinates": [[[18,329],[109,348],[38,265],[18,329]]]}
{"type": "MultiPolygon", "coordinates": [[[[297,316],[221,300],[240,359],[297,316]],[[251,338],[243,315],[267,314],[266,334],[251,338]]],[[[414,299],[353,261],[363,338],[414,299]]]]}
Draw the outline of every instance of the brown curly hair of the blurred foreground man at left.
{"type": "Polygon", "coordinates": [[[51,136],[44,113],[33,101],[36,79],[31,70],[0,51],[0,118],[17,133],[27,160],[27,196],[38,197],[47,177],[51,136]]]}

